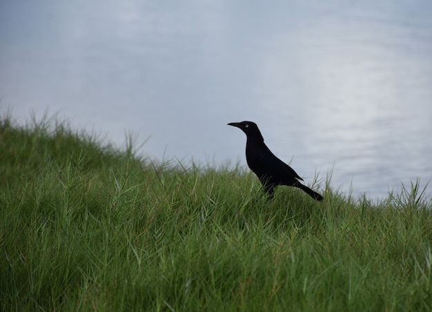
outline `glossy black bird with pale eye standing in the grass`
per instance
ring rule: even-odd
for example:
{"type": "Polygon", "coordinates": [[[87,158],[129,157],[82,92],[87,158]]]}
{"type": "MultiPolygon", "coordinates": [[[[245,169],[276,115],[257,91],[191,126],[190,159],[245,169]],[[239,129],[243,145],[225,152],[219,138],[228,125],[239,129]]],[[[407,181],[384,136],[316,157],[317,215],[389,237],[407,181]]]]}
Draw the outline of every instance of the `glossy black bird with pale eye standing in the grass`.
{"type": "Polygon", "coordinates": [[[313,199],[320,201],[323,199],[320,194],[301,184],[299,180],[303,181],[303,179],[294,169],[271,153],[271,150],[264,144],[264,137],[255,122],[231,122],[228,126],[240,128],[246,134],[246,162],[259,178],[270,198],[273,197],[275,186],[287,185],[302,189],[313,199]]]}

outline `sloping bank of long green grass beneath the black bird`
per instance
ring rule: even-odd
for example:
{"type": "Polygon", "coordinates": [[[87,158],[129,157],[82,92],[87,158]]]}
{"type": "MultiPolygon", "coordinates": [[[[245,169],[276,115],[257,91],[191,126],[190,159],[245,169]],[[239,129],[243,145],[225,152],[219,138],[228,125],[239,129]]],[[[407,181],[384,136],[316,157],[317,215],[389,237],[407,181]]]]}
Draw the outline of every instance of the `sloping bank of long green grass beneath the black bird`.
{"type": "Polygon", "coordinates": [[[430,311],[418,183],[380,202],[320,191],[267,202],[242,168],[150,162],[3,117],[0,309],[430,311]]]}

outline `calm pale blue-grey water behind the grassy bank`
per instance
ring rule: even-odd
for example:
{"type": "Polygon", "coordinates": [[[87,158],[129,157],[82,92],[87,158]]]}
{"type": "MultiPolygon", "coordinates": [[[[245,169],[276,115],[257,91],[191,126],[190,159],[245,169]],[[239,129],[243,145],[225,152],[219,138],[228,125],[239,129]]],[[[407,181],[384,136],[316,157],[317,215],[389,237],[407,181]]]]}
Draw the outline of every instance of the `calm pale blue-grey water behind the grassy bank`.
{"type": "Polygon", "coordinates": [[[0,113],[215,165],[246,164],[226,124],[252,120],[306,182],[429,182],[432,2],[255,2],[1,1],[0,113]]]}

